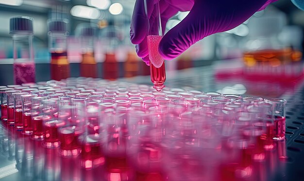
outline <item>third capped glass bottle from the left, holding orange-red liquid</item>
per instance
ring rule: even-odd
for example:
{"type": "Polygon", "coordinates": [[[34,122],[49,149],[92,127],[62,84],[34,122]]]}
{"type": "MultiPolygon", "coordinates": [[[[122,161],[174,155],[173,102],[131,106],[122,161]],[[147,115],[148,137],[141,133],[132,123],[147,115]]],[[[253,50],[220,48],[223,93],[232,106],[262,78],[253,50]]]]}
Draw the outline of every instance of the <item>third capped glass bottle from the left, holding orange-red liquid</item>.
{"type": "Polygon", "coordinates": [[[93,23],[82,23],[76,28],[76,35],[81,41],[81,77],[97,78],[97,64],[94,58],[94,39],[97,30],[97,24],[93,23]]]}

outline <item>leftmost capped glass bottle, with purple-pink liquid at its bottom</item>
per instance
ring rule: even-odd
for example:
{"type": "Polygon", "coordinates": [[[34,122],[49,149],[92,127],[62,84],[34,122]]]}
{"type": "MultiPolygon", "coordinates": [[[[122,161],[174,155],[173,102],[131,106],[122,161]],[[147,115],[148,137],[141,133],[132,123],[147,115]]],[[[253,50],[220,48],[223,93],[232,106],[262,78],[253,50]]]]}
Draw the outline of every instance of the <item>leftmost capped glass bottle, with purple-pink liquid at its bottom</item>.
{"type": "Polygon", "coordinates": [[[33,50],[33,18],[17,16],[10,19],[10,35],[14,47],[14,83],[35,82],[33,50]]]}

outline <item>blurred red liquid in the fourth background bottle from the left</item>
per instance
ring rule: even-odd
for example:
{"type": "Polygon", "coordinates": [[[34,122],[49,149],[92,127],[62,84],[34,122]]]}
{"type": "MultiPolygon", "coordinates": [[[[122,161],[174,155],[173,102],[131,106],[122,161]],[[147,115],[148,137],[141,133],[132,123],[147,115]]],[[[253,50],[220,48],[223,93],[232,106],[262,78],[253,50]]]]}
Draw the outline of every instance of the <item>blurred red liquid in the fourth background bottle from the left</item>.
{"type": "Polygon", "coordinates": [[[118,78],[118,62],[114,53],[106,53],[103,62],[103,78],[116,80],[118,78]]]}

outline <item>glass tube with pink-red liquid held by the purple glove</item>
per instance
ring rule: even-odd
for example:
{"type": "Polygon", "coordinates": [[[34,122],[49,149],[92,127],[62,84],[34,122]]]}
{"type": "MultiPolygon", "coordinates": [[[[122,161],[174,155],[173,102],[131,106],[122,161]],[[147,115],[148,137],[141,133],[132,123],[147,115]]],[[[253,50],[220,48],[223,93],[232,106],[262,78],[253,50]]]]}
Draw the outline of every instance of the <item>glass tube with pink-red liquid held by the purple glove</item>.
{"type": "MultiPolygon", "coordinates": [[[[159,2],[153,5],[153,15],[156,15],[153,24],[150,24],[147,0],[145,2],[145,11],[147,16],[146,27],[147,27],[147,42],[150,59],[150,74],[151,81],[154,84],[154,88],[157,91],[161,91],[166,81],[165,61],[158,52],[159,42],[162,39],[162,26],[160,21],[159,2]]],[[[151,22],[152,23],[152,22],[151,22]]]]}

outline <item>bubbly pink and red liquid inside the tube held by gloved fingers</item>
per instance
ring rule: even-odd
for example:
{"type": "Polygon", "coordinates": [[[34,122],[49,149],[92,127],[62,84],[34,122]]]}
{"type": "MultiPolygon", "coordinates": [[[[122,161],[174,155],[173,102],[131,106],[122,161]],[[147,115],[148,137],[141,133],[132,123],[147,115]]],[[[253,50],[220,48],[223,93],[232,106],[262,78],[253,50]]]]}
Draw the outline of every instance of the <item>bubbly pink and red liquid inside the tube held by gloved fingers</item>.
{"type": "Polygon", "coordinates": [[[147,36],[149,58],[150,58],[150,74],[151,81],[154,84],[154,88],[159,92],[165,85],[166,71],[164,59],[158,53],[158,45],[162,36],[160,35],[149,35],[147,36]]]}

